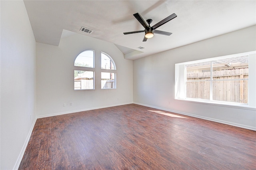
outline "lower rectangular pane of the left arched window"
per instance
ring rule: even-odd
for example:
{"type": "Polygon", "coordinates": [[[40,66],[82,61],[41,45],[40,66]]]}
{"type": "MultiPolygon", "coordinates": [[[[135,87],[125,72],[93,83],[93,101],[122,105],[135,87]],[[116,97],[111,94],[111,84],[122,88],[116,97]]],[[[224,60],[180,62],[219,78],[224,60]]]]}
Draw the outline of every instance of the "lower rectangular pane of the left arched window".
{"type": "Polygon", "coordinates": [[[74,70],[74,89],[94,89],[94,72],[74,70]]]}

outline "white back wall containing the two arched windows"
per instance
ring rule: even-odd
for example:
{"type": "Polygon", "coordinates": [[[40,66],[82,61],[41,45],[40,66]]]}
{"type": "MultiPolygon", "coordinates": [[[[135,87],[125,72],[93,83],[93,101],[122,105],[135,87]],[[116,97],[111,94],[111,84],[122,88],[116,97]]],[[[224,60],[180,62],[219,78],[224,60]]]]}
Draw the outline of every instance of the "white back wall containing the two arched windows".
{"type": "Polygon", "coordinates": [[[58,47],[36,43],[36,57],[38,117],[132,103],[132,61],[113,43],[75,34],[62,38],[58,47]],[[95,53],[95,90],[75,91],[74,60],[87,49],[95,53]],[[116,63],[117,89],[101,89],[101,51],[116,63]]]}

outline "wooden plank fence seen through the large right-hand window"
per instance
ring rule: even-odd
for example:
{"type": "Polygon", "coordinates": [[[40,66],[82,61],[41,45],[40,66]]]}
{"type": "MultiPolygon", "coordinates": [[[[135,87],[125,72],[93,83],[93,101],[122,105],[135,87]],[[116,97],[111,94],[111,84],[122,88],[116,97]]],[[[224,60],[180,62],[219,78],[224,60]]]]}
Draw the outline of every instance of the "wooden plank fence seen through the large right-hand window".
{"type": "MultiPolygon", "coordinates": [[[[212,98],[248,103],[248,68],[213,71],[212,98]]],[[[186,97],[210,99],[210,72],[187,73],[186,97]]]]}

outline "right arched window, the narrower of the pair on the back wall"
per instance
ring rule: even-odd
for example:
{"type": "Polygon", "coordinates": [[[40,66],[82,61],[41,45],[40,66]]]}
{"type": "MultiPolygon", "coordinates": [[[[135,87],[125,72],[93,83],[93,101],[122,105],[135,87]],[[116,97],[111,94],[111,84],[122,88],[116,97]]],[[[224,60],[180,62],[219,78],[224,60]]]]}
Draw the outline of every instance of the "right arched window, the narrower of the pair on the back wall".
{"type": "Polygon", "coordinates": [[[116,89],[116,64],[107,53],[101,52],[101,89],[116,89]]]}

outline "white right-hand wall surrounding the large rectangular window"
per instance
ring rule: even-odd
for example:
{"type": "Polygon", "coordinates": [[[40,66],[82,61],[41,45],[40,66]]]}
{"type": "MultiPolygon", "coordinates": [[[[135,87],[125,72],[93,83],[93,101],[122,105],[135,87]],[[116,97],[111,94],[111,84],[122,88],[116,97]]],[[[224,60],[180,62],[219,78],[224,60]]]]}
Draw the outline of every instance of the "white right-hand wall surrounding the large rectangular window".
{"type": "MultiPolygon", "coordinates": [[[[256,130],[256,111],[174,100],[174,64],[256,50],[256,26],[137,59],[134,103],[256,130]]],[[[254,94],[255,95],[255,94],[254,94]]]]}

